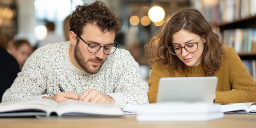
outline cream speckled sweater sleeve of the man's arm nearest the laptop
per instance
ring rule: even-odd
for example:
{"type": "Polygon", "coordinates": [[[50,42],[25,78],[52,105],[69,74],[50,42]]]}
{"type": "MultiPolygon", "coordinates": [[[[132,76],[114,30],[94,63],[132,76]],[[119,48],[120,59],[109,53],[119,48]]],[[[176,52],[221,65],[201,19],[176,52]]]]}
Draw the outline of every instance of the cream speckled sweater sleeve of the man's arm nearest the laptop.
{"type": "Polygon", "coordinates": [[[141,79],[138,63],[130,53],[121,54],[117,62],[117,81],[113,93],[108,95],[115,100],[115,105],[124,108],[127,104],[146,105],[148,104],[148,84],[141,79]]]}

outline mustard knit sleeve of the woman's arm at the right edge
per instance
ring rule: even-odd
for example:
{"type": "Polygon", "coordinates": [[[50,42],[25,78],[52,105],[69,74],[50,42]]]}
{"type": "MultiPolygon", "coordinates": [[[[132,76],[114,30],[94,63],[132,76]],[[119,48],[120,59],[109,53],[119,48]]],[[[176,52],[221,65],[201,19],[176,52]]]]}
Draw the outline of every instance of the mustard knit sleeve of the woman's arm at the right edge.
{"type": "Polygon", "coordinates": [[[216,103],[256,102],[256,83],[234,49],[227,49],[223,66],[229,68],[230,91],[216,92],[216,103]]]}

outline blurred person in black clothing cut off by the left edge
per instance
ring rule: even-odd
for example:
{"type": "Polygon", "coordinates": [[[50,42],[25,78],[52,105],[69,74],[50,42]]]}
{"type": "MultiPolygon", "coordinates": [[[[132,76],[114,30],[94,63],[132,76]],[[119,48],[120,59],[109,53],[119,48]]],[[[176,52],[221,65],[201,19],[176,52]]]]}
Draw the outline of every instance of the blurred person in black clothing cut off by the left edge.
{"type": "Polygon", "coordinates": [[[0,102],[2,94],[11,87],[17,77],[20,68],[16,59],[6,51],[7,42],[2,31],[0,31],[0,102]]]}

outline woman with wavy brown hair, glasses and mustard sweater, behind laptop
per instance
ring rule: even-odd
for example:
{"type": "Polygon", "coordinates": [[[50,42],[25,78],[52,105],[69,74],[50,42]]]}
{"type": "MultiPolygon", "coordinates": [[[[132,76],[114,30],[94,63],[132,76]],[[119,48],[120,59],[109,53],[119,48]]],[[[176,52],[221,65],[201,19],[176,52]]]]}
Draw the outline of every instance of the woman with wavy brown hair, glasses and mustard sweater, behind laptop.
{"type": "Polygon", "coordinates": [[[200,11],[175,13],[146,45],[152,72],[148,99],[156,101],[162,77],[217,76],[215,103],[256,102],[256,83],[234,49],[221,45],[218,28],[200,11]]]}

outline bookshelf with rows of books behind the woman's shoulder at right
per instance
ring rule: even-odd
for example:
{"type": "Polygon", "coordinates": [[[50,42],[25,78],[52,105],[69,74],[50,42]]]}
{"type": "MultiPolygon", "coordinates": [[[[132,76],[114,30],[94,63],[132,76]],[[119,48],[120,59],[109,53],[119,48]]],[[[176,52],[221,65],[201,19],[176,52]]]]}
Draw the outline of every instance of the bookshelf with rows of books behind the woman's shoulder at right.
{"type": "Polygon", "coordinates": [[[201,12],[220,28],[222,44],[236,50],[256,81],[256,0],[218,0],[201,12]]]}

